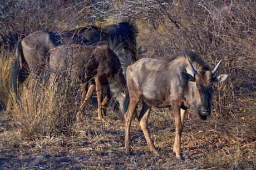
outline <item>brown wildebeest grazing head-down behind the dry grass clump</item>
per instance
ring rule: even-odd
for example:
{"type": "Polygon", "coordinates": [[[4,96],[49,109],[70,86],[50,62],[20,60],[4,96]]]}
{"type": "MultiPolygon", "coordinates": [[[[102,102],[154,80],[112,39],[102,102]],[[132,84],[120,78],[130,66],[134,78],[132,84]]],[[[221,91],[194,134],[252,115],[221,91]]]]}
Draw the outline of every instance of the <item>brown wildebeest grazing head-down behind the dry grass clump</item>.
{"type": "Polygon", "coordinates": [[[49,53],[51,74],[48,83],[65,71],[74,81],[79,79],[78,83],[95,79],[100,120],[104,120],[101,111],[102,85],[110,85],[115,100],[124,99],[126,82],[121,64],[116,53],[108,45],[61,45],[50,50],[49,53]]]}

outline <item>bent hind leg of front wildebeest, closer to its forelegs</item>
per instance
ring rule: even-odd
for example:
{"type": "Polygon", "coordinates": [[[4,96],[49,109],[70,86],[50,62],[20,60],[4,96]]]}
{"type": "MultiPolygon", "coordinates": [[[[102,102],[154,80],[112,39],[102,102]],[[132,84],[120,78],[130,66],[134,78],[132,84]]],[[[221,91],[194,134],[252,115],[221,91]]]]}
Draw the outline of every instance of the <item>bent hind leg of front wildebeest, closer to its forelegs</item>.
{"type": "Polygon", "coordinates": [[[142,109],[139,116],[140,127],[144,133],[144,136],[147,141],[147,145],[149,145],[150,151],[157,153],[154,143],[149,135],[149,130],[147,128],[147,120],[149,119],[151,107],[143,102],[142,109]]]}

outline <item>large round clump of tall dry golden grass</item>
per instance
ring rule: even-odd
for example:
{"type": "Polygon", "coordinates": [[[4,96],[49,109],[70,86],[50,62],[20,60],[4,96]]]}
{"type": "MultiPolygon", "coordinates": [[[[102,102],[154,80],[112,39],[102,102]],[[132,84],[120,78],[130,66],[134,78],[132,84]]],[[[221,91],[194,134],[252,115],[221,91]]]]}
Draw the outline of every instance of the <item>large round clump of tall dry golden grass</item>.
{"type": "Polygon", "coordinates": [[[31,80],[21,87],[19,95],[11,94],[11,115],[22,137],[42,140],[45,137],[72,135],[78,111],[77,87],[68,79],[50,85],[31,80]]]}

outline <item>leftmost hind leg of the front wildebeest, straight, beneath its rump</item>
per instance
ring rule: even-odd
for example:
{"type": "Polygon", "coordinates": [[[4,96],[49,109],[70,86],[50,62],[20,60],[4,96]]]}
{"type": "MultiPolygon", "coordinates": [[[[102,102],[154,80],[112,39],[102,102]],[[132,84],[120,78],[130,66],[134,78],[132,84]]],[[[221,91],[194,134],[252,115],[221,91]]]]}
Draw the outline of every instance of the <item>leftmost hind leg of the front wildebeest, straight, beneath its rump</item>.
{"type": "Polygon", "coordinates": [[[129,154],[129,136],[130,136],[130,127],[132,116],[134,115],[137,104],[140,99],[130,96],[128,110],[125,114],[125,152],[129,154]]]}

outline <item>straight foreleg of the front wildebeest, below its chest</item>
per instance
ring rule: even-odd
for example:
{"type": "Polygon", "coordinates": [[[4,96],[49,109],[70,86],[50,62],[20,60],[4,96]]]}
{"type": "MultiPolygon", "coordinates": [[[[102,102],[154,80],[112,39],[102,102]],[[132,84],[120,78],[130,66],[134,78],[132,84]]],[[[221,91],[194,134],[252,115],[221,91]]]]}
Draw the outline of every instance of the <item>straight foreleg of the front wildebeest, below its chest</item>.
{"type": "MultiPolygon", "coordinates": [[[[180,113],[180,106],[174,105],[172,106],[173,114],[174,114],[174,120],[175,120],[175,142],[173,146],[173,151],[176,154],[176,157],[180,159],[184,159],[182,154],[180,154],[180,139],[181,139],[181,133],[183,131],[183,125],[181,122],[181,113],[180,113]]],[[[185,116],[185,114],[183,114],[185,116]]],[[[184,119],[183,119],[184,121],[184,119]]]]}

